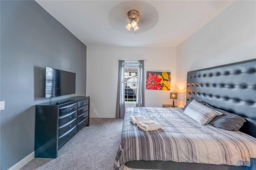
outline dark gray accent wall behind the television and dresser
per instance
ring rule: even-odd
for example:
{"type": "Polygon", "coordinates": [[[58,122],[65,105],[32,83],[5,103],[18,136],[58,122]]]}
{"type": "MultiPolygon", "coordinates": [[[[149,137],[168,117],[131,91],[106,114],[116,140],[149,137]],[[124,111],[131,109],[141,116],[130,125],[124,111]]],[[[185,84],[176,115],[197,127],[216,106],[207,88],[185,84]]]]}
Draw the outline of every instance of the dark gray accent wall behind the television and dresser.
{"type": "Polygon", "coordinates": [[[44,98],[44,70],[76,73],[86,95],[86,46],[35,1],[0,1],[0,169],[34,152],[35,105],[44,98]]]}

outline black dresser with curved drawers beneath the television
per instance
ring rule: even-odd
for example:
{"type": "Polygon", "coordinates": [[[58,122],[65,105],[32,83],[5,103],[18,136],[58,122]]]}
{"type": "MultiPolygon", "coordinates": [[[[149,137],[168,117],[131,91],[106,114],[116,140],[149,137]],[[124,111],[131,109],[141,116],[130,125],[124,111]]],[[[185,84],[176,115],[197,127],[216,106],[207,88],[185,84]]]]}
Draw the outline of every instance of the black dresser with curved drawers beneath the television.
{"type": "Polygon", "coordinates": [[[35,158],[57,158],[58,150],[89,126],[90,96],[36,105],[35,158]]]}

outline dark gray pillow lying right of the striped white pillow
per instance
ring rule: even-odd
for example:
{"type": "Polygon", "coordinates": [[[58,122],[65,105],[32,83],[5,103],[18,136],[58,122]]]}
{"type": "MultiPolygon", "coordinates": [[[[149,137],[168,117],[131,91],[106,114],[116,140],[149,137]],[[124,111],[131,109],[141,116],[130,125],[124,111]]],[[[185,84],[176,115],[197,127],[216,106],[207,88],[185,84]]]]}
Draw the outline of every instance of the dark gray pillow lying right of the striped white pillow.
{"type": "Polygon", "coordinates": [[[242,116],[238,116],[236,114],[214,108],[208,103],[206,104],[206,106],[223,113],[222,116],[216,116],[212,119],[212,121],[209,122],[210,125],[216,128],[230,131],[239,131],[239,129],[243,126],[244,122],[246,122],[245,118],[243,118],[242,116]]]}

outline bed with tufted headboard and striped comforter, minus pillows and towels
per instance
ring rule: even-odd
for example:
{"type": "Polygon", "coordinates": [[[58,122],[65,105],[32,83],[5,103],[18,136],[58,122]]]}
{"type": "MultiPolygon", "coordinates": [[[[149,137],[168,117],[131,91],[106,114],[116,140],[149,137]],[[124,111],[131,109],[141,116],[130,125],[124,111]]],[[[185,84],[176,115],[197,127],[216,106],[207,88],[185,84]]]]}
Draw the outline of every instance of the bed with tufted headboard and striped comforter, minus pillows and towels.
{"type": "Polygon", "coordinates": [[[187,102],[245,117],[240,131],[199,124],[182,108],[128,108],[114,169],[249,169],[256,158],[255,96],[256,59],[188,72],[187,102]],[[162,129],[143,131],[130,122],[134,115],[162,129]]]}

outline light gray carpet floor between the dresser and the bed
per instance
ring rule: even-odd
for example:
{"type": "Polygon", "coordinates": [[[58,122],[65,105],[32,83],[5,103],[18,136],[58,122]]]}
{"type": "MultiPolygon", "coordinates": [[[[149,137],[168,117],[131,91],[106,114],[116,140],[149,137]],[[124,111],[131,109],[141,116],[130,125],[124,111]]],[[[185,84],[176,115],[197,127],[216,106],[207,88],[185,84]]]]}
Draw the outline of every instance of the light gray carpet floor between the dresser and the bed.
{"type": "Polygon", "coordinates": [[[58,158],[34,158],[21,170],[113,170],[123,119],[90,118],[58,152],[58,158]]]}

